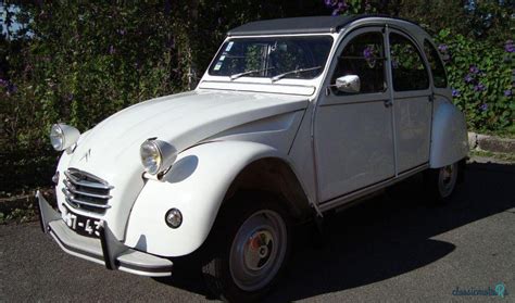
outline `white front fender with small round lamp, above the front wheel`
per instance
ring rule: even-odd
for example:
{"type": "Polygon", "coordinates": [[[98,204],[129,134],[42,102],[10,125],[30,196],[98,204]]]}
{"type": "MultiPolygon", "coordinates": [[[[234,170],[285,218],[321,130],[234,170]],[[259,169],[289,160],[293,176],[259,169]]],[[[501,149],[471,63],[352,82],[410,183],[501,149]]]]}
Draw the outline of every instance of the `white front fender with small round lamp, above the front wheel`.
{"type": "Polygon", "coordinates": [[[255,142],[218,141],[184,151],[160,180],[149,179],[136,200],[125,244],[161,256],[180,256],[208,238],[233,180],[248,164],[263,157],[285,157],[255,142]],[[183,213],[183,224],[165,224],[169,209],[183,213]]]}

